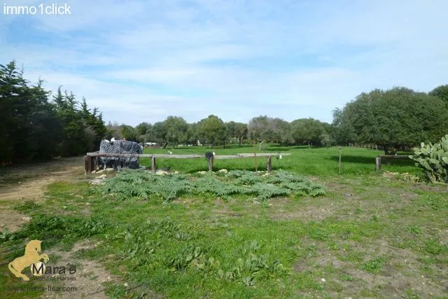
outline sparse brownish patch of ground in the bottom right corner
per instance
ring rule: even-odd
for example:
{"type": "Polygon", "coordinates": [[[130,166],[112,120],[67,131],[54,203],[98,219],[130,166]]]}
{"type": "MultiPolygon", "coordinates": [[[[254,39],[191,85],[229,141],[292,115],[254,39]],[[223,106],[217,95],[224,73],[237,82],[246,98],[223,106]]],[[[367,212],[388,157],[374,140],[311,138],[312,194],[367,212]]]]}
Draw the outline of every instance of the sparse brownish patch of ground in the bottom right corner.
{"type": "MultiPolygon", "coordinates": [[[[305,239],[304,244],[311,244],[311,240],[305,239]]],[[[447,269],[434,267],[434,274],[427,277],[419,270],[422,264],[416,253],[390,246],[385,240],[351,244],[365,256],[357,262],[347,260],[349,252],[345,249],[332,251],[324,243],[316,242],[311,245],[317,246],[314,256],[297,260],[293,269],[296,272],[319,270],[323,280],[318,282],[325,284],[325,292],[332,298],[406,298],[403,295],[407,291],[422,298],[442,298],[447,294],[447,269]],[[378,272],[363,269],[367,260],[378,257],[384,259],[378,272]]]]}

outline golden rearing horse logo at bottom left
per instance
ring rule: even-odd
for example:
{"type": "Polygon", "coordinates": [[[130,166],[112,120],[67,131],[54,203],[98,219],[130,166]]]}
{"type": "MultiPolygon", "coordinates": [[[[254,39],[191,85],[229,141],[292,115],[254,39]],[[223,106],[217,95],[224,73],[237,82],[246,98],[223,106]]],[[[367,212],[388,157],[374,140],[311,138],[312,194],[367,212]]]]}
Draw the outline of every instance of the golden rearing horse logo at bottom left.
{"type": "Polygon", "coordinates": [[[36,276],[40,276],[41,274],[43,274],[43,269],[45,269],[45,265],[41,263],[41,260],[43,259],[43,262],[46,263],[50,259],[48,258],[47,254],[39,254],[40,252],[41,241],[37,239],[29,241],[25,246],[25,254],[23,256],[15,258],[15,260],[9,263],[8,267],[10,272],[12,272],[15,277],[22,278],[24,281],[29,281],[29,277],[27,277],[27,275],[25,274],[22,274],[22,271],[26,267],[31,266],[31,273],[36,276]],[[37,267],[38,265],[40,267],[37,267]]]}

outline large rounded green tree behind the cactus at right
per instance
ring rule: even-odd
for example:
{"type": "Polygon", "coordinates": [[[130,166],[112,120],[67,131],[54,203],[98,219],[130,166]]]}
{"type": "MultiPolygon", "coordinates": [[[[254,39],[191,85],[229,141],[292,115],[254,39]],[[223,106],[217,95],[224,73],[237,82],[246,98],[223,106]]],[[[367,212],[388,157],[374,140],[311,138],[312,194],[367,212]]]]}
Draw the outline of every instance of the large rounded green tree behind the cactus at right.
{"type": "Polygon", "coordinates": [[[339,141],[377,144],[388,153],[390,148],[440,139],[447,133],[447,115],[447,106],[438,97],[392,88],[358,95],[335,111],[334,125],[339,141]]]}

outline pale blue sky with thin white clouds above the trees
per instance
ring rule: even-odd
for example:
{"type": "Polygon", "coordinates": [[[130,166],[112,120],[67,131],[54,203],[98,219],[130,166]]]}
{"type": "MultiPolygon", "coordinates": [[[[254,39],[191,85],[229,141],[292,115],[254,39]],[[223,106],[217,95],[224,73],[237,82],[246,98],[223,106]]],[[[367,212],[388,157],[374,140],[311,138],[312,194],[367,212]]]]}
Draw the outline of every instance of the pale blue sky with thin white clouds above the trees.
{"type": "Polygon", "coordinates": [[[1,0],[0,63],[137,125],[330,122],[363,91],[448,83],[448,1],[1,0]],[[4,6],[71,6],[5,15],[4,6]]]}

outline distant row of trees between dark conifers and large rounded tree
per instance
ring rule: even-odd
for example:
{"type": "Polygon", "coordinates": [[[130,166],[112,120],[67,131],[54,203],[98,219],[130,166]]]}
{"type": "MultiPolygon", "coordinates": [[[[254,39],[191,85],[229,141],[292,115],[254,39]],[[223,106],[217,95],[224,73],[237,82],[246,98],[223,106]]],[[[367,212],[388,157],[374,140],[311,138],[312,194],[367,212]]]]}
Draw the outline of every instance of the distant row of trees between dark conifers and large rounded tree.
{"type": "Polygon", "coordinates": [[[228,146],[230,144],[275,143],[281,145],[308,144],[331,146],[331,125],[313,118],[303,118],[288,123],[280,118],[258,116],[249,123],[225,123],[218,116],[210,115],[197,123],[187,123],[179,116],[154,123],[140,123],[136,127],[109,123],[108,138],[126,139],[140,143],[155,142],[164,148],[179,144],[204,144],[228,146]]]}

